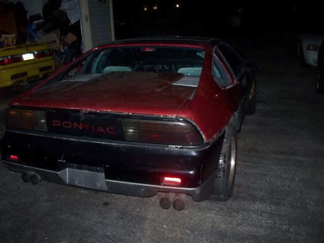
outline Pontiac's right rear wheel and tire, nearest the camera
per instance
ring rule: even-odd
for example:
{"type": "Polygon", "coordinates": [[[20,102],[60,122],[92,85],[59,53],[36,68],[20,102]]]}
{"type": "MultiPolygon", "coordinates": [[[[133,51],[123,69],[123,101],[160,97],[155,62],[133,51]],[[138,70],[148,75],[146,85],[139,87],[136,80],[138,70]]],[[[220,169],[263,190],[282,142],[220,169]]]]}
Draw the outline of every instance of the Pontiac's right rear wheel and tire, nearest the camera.
{"type": "Polygon", "coordinates": [[[209,200],[227,201],[233,195],[237,161],[237,136],[235,128],[230,125],[226,130],[222,152],[214,181],[213,194],[209,200]]]}

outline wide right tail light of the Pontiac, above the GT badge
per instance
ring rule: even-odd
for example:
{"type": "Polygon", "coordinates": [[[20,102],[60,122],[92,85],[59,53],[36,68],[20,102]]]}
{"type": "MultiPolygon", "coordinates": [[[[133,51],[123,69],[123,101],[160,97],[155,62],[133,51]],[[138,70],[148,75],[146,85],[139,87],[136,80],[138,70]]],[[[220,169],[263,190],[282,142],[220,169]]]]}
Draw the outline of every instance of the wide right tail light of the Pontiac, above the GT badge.
{"type": "Polygon", "coordinates": [[[131,142],[190,146],[203,142],[200,133],[184,121],[124,119],[125,139],[131,142]]]}

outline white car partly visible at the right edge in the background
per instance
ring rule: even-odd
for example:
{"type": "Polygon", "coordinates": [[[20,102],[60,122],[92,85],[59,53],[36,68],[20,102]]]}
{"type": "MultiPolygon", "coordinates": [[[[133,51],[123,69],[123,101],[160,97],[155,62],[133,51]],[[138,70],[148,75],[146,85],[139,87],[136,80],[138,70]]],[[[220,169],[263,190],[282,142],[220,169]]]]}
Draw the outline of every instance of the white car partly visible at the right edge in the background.
{"type": "Polygon", "coordinates": [[[298,45],[300,67],[317,66],[317,54],[324,34],[301,34],[298,45]]]}

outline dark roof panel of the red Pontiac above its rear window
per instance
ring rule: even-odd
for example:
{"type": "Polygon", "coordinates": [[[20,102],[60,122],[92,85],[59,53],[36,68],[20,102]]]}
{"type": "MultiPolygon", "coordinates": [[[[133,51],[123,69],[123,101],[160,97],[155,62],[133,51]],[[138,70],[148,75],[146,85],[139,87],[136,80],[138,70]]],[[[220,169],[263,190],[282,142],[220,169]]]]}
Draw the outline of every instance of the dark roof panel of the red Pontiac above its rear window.
{"type": "Polygon", "coordinates": [[[126,44],[126,43],[140,43],[140,42],[154,42],[154,43],[186,43],[186,44],[197,44],[206,43],[211,45],[218,45],[223,43],[221,39],[212,37],[197,37],[197,36],[149,36],[149,37],[136,37],[129,39],[121,39],[113,42],[114,44],[126,44]]]}

